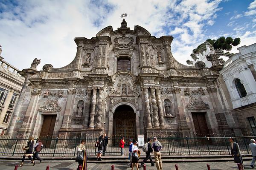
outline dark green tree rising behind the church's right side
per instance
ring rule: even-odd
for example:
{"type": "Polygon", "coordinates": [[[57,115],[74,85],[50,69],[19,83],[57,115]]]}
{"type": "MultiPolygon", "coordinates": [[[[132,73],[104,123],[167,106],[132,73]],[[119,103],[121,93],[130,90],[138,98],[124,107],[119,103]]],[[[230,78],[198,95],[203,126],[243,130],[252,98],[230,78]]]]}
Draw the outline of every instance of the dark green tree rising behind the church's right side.
{"type": "MultiPolygon", "coordinates": [[[[214,49],[222,49],[225,51],[230,51],[232,49],[233,46],[237,46],[240,44],[240,38],[235,38],[233,39],[232,37],[219,37],[217,40],[211,40],[211,39],[207,39],[207,42],[209,42],[214,49]]],[[[190,54],[190,57],[196,61],[196,59],[198,59],[198,51],[200,50],[200,48],[202,47],[202,45],[204,45],[204,43],[198,45],[197,48],[193,49],[192,54],[190,54]]],[[[229,53],[229,52],[227,52],[229,53]]],[[[187,60],[186,61],[187,64],[192,65],[193,62],[191,60],[187,60]]]]}

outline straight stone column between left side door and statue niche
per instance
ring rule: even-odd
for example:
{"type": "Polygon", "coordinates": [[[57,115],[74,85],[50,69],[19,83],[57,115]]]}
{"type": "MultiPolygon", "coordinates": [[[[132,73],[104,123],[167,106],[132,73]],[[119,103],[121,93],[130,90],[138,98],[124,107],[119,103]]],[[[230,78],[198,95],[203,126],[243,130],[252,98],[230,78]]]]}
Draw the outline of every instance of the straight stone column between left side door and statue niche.
{"type": "MultiPolygon", "coordinates": [[[[68,94],[67,104],[65,108],[62,126],[61,126],[61,129],[59,130],[60,132],[70,131],[70,123],[71,123],[71,117],[73,114],[73,104],[74,104],[76,89],[73,89],[73,88],[68,89],[67,94],[68,94]]],[[[67,137],[67,134],[65,135],[65,137],[67,137]]]]}

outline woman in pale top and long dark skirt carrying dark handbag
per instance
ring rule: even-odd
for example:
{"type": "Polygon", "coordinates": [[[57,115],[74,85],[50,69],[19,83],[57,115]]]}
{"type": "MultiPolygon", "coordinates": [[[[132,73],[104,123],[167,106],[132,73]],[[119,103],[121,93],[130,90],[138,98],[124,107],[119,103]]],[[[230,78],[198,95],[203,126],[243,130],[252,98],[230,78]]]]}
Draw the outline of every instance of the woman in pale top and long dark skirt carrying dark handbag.
{"type": "Polygon", "coordinates": [[[78,167],[76,170],[79,170],[79,166],[82,166],[82,170],[87,169],[87,156],[86,156],[86,150],[84,146],[85,140],[81,140],[81,143],[77,147],[77,156],[76,161],[78,162],[78,167]]]}

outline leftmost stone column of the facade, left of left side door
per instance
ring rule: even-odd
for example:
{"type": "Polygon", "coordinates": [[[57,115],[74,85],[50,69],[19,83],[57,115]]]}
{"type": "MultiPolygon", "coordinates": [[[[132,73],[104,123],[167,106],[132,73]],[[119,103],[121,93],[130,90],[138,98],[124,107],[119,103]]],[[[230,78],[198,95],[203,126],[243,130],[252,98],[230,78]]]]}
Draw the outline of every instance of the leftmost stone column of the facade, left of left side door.
{"type": "Polygon", "coordinates": [[[34,89],[31,91],[29,106],[26,110],[26,114],[23,119],[22,126],[20,130],[18,130],[19,133],[23,133],[23,134],[26,133],[29,136],[31,132],[32,122],[35,121],[33,118],[38,112],[37,106],[38,106],[38,99],[40,95],[41,95],[41,90],[34,89]]]}

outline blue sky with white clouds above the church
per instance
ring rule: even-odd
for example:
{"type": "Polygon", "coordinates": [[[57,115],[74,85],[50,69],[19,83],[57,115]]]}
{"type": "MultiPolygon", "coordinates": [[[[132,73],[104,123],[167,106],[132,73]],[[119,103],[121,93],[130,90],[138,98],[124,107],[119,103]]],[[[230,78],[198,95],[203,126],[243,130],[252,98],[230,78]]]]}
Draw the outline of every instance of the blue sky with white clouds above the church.
{"type": "Polygon", "coordinates": [[[239,37],[256,43],[256,0],[0,0],[1,57],[22,70],[41,59],[64,67],[76,56],[75,37],[90,39],[107,26],[142,26],[151,36],[172,35],[172,54],[186,64],[207,39],[239,37]]]}

